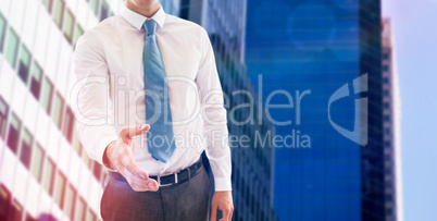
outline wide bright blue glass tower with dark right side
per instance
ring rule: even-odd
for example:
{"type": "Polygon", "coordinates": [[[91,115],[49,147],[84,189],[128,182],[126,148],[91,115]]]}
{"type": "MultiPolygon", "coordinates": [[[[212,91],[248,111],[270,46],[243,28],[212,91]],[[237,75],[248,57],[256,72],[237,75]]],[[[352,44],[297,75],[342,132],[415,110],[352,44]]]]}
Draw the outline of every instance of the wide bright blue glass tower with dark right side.
{"type": "Polygon", "coordinates": [[[283,105],[270,118],[289,137],[274,144],[280,220],[385,219],[379,11],[379,1],[248,0],[248,73],[283,105]]]}

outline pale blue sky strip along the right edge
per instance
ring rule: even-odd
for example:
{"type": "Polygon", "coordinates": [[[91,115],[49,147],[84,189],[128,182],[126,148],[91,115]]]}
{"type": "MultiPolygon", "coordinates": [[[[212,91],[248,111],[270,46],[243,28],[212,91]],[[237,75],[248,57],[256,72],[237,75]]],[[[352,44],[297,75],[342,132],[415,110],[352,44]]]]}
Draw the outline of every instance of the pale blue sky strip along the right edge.
{"type": "Polygon", "coordinates": [[[437,217],[437,0],[383,0],[401,96],[405,221],[437,217]]]}

